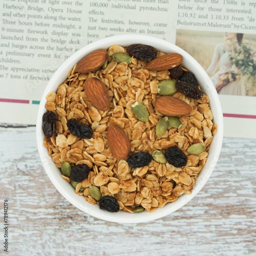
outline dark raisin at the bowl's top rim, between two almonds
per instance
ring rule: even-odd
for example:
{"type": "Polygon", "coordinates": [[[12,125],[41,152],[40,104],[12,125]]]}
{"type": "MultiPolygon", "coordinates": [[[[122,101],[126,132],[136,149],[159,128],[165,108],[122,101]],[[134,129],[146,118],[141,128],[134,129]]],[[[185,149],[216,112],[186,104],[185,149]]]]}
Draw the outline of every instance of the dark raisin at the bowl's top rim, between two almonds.
{"type": "Polygon", "coordinates": [[[157,50],[145,44],[132,44],[127,48],[127,53],[139,61],[151,61],[157,56],[157,50]]]}

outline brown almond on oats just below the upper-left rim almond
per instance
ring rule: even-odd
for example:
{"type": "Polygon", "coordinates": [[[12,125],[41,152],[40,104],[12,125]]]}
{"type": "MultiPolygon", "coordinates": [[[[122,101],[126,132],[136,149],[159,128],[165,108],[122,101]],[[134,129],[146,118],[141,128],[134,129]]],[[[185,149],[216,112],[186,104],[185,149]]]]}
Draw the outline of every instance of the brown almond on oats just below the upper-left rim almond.
{"type": "Polygon", "coordinates": [[[92,77],[84,82],[87,99],[99,110],[109,109],[110,97],[107,86],[98,78],[92,77]]]}

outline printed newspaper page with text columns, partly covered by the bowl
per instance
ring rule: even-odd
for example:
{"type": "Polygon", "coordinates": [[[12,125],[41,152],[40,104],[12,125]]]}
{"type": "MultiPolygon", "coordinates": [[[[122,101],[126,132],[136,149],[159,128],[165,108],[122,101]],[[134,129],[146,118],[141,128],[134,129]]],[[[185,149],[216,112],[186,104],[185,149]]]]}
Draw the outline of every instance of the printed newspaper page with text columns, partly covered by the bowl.
{"type": "Polygon", "coordinates": [[[0,122],[34,125],[47,82],[76,50],[143,34],[177,44],[222,83],[224,136],[256,138],[256,0],[0,0],[0,7],[0,122]]]}

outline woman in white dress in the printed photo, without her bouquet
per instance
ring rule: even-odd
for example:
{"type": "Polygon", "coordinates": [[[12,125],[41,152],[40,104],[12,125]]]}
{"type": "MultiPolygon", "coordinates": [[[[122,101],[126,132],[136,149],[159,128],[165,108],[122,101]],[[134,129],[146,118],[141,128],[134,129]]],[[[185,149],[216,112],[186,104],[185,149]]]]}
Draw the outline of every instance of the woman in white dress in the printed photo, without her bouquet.
{"type": "Polygon", "coordinates": [[[246,95],[244,79],[241,79],[242,72],[231,61],[231,56],[236,54],[243,36],[241,33],[226,32],[224,43],[215,47],[207,74],[212,79],[218,94],[246,95]]]}

